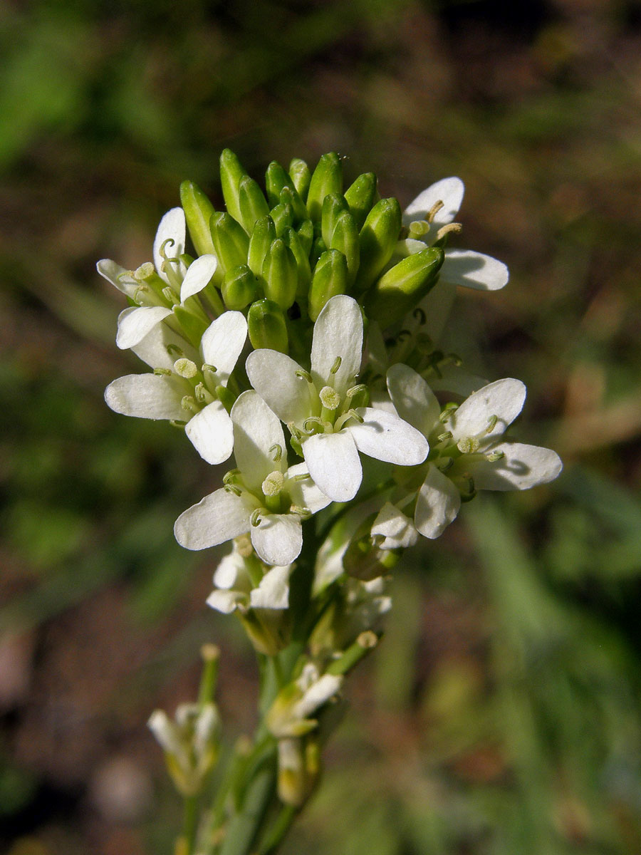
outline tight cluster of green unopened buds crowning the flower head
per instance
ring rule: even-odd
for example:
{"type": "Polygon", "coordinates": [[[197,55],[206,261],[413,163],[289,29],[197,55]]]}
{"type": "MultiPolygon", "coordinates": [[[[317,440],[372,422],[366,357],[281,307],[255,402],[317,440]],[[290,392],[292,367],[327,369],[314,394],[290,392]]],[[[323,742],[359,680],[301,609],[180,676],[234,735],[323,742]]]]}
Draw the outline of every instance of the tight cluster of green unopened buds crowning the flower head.
{"type": "Polygon", "coordinates": [[[265,192],[230,150],[221,154],[226,212],[192,181],[180,187],[191,240],[219,266],[205,292],[213,304],[246,310],[254,348],[287,353],[309,341],[327,301],[349,294],[384,327],[403,318],[435,284],[442,246],[398,257],[403,233],[396,198],[379,198],[364,173],[344,188],[340,157],[321,156],[314,171],[295,158],[271,162],[265,192]]]}

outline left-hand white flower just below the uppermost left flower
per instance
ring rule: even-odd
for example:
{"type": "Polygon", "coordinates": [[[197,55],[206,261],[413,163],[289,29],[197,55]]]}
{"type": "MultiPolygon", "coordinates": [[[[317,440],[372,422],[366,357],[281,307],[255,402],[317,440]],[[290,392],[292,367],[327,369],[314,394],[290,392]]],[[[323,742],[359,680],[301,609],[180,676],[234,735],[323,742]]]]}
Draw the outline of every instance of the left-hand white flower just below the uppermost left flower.
{"type": "Polygon", "coordinates": [[[156,325],[133,347],[155,373],[119,377],[107,386],[105,400],[125,416],[184,423],[201,457],[222,463],[232,453],[233,431],[219,397],[246,338],[247,321],[240,312],[212,321],[200,351],[166,325],[156,325]]]}

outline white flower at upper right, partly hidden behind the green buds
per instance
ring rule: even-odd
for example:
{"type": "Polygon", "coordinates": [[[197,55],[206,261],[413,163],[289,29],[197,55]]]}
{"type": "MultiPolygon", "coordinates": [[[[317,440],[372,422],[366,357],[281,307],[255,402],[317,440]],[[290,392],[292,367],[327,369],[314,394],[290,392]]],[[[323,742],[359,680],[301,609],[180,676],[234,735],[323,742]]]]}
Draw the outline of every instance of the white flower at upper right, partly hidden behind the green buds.
{"type": "MultiPolygon", "coordinates": [[[[403,213],[409,238],[401,243],[403,254],[412,255],[431,246],[444,233],[458,230],[452,221],[458,214],[465,187],[460,178],[444,178],[427,187],[403,213]]],[[[507,284],[508,268],[496,258],[473,250],[445,248],[440,280],[480,291],[497,291],[507,284]]]]}

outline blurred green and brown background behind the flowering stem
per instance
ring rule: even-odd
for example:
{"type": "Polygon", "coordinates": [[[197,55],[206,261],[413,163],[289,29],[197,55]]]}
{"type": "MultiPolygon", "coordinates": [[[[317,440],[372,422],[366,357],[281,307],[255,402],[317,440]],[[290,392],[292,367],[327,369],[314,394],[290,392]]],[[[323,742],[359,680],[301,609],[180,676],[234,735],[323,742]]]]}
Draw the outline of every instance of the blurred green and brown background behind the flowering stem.
{"type": "Polygon", "coordinates": [[[166,423],[115,416],[121,296],[191,178],[232,147],[346,156],[408,203],[458,174],[474,367],[529,387],[555,484],[467,505],[394,582],[384,643],[289,855],[641,851],[641,6],[631,0],[5,0],[0,6],[0,848],[170,852],[145,721],[223,649],[231,742],[255,669],[173,541],[209,492],[166,423]]]}

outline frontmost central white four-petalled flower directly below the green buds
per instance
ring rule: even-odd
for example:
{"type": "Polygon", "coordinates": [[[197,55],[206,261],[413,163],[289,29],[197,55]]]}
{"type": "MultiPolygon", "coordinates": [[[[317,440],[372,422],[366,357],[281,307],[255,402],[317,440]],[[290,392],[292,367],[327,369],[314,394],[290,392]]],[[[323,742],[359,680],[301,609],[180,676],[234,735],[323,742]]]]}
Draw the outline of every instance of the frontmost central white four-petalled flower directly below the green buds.
{"type": "Polygon", "coordinates": [[[394,413],[353,406],[363,391],[355,386],[361,359],[361,310],[340,295],[315,322],[311,372],[277,351],[253,351],[246,362],[251,385],[290,428],[309,475],[335,502],[354,498],[361,486],[359,451],[403,466],[428,451],[424,437],[394,413]]]}

